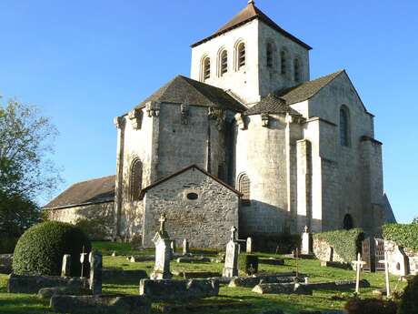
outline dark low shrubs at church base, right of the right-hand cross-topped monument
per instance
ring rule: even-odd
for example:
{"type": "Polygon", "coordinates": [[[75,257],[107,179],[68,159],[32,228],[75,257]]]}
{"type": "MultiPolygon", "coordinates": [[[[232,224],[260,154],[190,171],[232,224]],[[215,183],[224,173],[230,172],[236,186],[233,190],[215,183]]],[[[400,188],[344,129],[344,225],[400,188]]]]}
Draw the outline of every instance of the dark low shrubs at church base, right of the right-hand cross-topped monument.
{"type": "Polygon", "coordinates": [[[247,235],[244,238],[253,238],[253,248],[257,252],[286,254],[294,250],[294,248],[300,248],[302,238],[300,235],[293,235],[288,232],[280,234],[252,234],[247,235]]]}

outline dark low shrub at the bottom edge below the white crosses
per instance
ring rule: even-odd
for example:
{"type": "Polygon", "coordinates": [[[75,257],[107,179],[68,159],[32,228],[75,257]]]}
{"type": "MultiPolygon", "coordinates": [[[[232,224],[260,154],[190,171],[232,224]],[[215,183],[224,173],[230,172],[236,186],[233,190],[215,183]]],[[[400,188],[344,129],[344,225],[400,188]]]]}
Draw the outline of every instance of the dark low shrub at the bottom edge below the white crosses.
{"type": "Polygon", "coordinates": [[[355,298],[348,301],[344,308],[348,314],[396,314],[397,305],[391,300],[355,298]]]}

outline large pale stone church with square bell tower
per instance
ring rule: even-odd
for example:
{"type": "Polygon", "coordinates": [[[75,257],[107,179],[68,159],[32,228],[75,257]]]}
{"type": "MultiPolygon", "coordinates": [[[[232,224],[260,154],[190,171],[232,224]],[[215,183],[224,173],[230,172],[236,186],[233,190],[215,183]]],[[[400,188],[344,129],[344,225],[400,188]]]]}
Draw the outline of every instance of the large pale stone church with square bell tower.
{"type": "Polygon", "coordinates": [[[176,76],[117,116],[116,174],[75,184],[50,218],[109,215],[114,238],[152,246],[158,218],[195,247],[240,237],[394,221],[382,143],[344,70],[311,80],[311,46],[249,1],[192,45],[176,76]]]}

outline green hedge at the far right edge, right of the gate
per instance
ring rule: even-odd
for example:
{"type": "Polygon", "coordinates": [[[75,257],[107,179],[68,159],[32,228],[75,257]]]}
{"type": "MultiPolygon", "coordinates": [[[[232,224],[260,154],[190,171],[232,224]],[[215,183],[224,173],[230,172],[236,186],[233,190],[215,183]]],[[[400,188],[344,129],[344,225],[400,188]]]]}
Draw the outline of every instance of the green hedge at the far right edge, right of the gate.
{"type": "Polygon", "coordinates": [[[418,224],[388,224],[383,226],[383,238],[398,246],[418,252],[418,224]]]}

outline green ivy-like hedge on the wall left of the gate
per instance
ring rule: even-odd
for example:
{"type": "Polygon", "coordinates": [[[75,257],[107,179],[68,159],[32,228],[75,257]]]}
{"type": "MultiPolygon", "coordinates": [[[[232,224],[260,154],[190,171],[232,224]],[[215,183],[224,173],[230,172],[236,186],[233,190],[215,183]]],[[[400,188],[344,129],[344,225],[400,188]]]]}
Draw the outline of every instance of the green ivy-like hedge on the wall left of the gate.
{"type": "Polygon", "coordinates": [[[314,241],[328,243],[328,245],[333,247],[334,252],[347,263],[357,259],[357,253],[362,249],[363,239],[364,233],[361,228],[334,230],[314,234],[314,241]]]}

